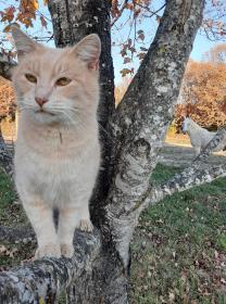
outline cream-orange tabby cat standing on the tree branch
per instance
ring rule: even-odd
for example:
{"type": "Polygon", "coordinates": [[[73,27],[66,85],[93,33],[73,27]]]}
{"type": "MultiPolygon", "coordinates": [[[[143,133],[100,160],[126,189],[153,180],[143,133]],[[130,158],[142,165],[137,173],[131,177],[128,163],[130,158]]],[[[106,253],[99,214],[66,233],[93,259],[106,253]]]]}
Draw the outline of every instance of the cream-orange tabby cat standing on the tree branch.
{"type": "Polygon", "coordinates": [[[51,49],[16,26],[11,33],[18,59],[12,77],[20,111],[15,185],[37,236],[35,257],[72,257],[75,228],[92,231],[100,38],[91,34],[74,47],[51,49]]]}

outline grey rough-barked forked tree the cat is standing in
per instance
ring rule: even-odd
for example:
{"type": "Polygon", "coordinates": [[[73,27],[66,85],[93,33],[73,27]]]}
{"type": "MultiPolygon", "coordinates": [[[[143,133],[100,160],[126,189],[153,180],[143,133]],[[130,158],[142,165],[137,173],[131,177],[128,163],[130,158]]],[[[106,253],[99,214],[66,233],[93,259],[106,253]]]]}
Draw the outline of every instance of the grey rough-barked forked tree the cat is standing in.
{"type": "MultiPolygon", "coordinates": [[[[129,243],[141,211],[167,194],[211,181],[226,172],[224,165],[203,166],[222,139],[222,130],[189,168],[159,187],[150,183],[202,22],[204,1],[166,2],[154,41],[116,109],[111,2],[49,0],[48,7],[58,47],[75,43],[93,31],[102,41],[99,113],[104,128],[104,166],[91,200],[92,220],[98,229],[93,235],[76,231],[72,259],[43,258],[1,274],[0,302],[54,303],[56,293],[66,288],[68,303],[128,303],[129,243]]],[[[25,236],[30,236],[29,229],[0,227],[1,239],[18,241],[25,236]]]]}

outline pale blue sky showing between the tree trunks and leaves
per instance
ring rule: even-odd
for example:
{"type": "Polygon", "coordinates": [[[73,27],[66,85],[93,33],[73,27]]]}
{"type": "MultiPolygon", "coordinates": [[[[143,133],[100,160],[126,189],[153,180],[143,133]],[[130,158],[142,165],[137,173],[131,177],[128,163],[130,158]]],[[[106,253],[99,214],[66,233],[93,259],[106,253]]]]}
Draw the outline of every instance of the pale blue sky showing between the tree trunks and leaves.
{"type": "MultiPolygon", "coordinates": [[[[210,0],[208,0],[210,1],[210,0]]],[[[17,4],[18,1],[16,0],[0,0],[0,11],[3,11],[4,8],[8,8],[11,4],[17,4]]],[[[49,12],[47,7],[42,5],[42,0],[39,1],[40,7],[39,7],[39,12],[43,13],[46,16],[50,17],[49,12]]],[[[162,7],[162,4],[164,3],[164,0],[152,0],[152,7],[151,9],[153,11],[158,10],[159,8],[162,7]]],[[[158,13],[160,16],[163,14],[163,10],[161,10],[158,13]]],[[[136,21],[136,27],[135,27],[135,23],[133,23],[133,17],[129,18],[129,11],[126,10],[125,13],[121,16],[121,18],[115,23],[115,25],[112,27],[112,40],[114,42],[114,46],[112,47],[112,58],[113,58],[113,62],[114,62],[114,74],[115,74],[115,84],[118,85],[122,81],[122,75],[121,75],[121,71],[123,68],[130,68],[134,67],[135,71],[138,68],[139,66],[139,60],[137,58],[137,53],[139,53],[140,47],[141,48],[147,48],[150,46],[150,42],[153,40],[154,34],[156,31],[156,28],[159,26],[159,23],[156,21],[156,17],[142,17],[142,20],[137,20],[136,21]],[[121,29],[118,29],[121,28],[121,29]],[[124,58],[122,58],[121,55],[121,50],[122,50],[122,45],[126,43],[127,39],[130,37],[133,38],[133,43],[134,43],[134,37],[135,37],[135,33],[136,33],[136,37],[138,37],[138,31],[142,29],[143,34],[145,34],[145,39],[140,40],[140,39],[136,39],[137,42],[135,42],[135,47],[137,52],[134,53],[133,56],[133,62],[128,63],[128,64],[124,64],[124,58]]],[[[37,22],[34,25],[33,29],[28,29],[28,34],[30,35],[37,35],[39,36],[40,34],[42,34],[43,36],[50,36],[50,34],[47,34],[47,30],[45,28],[41,28],[40,25],[40,21],[39,17],[37,17],[37,22]]],[[[2,29],[4,28],[5,25],[3,25],[2,23],[0,23],[0,38],[2,37],[2,29]]],[[[48,29],[51,31],[51,24],[48,25],[48,29]]],[[[49,42],[50,46],[53,46],[53,42],[49,42]]],[[[211,48],[213,48],[214,46],[216,46],[218,43],[218,41],[210,41],[205,35],[201,35],[200,31],[198,31],[194,43],[193,43],[193,49],[192,52],[190,54],[190,58],[192,60],[196,61],[201,61],[203,54],[209,51],[211,48]]],[[[8,42],[4,42],[4,46],[9,46],[8,42]]],[[[1,46],[0,46],[1,47],[1,46]]],[[[129,56],[130,53],[128,52],[128,54],[126,56],[129,56]]]]}

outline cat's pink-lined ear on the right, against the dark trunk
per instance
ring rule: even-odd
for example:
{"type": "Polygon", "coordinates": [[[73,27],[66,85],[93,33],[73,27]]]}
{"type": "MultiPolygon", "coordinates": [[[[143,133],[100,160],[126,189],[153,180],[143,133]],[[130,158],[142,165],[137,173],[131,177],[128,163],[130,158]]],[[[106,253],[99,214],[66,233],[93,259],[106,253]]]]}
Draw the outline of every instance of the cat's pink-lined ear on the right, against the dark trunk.
{"type": "Polygon", "coordinates": [[[97,34],[86,36],[73,48],[73,52],[87,63],[89,69],[98,69],[101,53],[99,36],[97,34]]]}

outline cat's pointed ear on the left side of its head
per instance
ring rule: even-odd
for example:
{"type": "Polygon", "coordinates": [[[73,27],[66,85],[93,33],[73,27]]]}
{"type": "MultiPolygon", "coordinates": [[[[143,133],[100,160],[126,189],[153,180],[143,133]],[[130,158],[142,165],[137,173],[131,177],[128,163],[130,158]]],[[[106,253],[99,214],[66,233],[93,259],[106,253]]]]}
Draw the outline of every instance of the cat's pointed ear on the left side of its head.
{"type": "Polygon", "coordinates": [[[11,33],[15,42],[17,50],[17,58],[21,60],[25,54],[34,52],[35,50],[41,48],[41,45],[35,42],[30,39],[24,31],[22,31],[17,26],[11,26],[11,33]]]}

